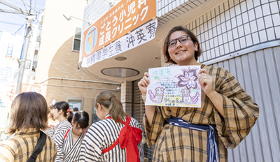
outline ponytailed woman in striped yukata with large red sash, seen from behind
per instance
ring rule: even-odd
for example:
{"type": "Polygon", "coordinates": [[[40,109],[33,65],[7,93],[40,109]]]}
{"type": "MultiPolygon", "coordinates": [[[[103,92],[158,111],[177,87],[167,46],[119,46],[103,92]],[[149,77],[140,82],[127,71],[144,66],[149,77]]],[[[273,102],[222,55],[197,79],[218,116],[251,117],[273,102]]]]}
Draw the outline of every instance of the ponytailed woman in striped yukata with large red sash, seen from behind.
{"type": "Polygon", "coordinates": [[[83,140],[80,161],[144,161],[142,128],[139,121],[123,111],[122,103],[111,91],[95,98],[97,117],[83,140]]]}

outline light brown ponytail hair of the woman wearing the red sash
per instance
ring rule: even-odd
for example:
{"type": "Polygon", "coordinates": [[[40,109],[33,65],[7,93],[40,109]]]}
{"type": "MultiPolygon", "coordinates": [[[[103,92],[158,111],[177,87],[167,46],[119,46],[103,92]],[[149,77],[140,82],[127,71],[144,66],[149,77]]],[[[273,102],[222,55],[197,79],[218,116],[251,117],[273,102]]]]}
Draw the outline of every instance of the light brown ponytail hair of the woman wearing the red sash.
{"type": "Polygon", "coordinates": [[[104,105],[104,107],[108,108],[110,117],[117,123],[120,123],[121,119],[128,116],[123,110],[123,104],[111,91],[102,91],[97,94],[94,103],[95,106],[99,103],[100,105],[104,105]]]}

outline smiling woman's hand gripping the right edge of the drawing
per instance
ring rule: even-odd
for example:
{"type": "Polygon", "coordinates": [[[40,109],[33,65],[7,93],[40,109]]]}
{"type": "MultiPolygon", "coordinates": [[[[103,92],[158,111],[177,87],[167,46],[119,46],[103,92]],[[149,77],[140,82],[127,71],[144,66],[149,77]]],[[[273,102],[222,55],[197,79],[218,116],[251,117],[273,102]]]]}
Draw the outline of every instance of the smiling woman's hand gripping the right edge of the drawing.
{"type": "Polygon", "coordinates": [[[198,73],[200,74],[199,83],[202,91],[210,97],[216,92],[214,89],[214,79],[205,68],[200,69],[198,73]]]}

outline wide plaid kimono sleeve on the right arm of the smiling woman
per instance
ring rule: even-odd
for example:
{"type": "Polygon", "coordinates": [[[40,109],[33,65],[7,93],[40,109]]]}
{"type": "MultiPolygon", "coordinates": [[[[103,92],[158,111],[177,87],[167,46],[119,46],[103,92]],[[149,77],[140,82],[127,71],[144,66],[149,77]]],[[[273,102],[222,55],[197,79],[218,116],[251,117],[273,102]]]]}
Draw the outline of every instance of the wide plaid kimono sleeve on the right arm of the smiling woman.
{"type": "Polygon", "coordinates": [[[216,91],[223,97],[225,117],[214,109],[216,128],[225,147],[234,149],[250,133],[259,107],[230,72],[219,68],[217,73],[216,91]]]}

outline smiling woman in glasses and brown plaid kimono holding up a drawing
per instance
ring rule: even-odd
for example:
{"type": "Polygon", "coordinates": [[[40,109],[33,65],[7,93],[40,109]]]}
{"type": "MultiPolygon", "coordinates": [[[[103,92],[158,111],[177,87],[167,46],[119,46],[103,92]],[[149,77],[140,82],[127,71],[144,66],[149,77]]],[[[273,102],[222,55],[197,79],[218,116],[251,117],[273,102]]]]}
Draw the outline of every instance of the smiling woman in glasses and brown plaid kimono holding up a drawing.
{"type": "MultiPolygon", "coordinates": [[[[144,125],[153,161],[228,161],[233,149],[250,132],[259,107],[224,68],[197,63],[202,50],[196,36],[174,27],[165,39],[165,61],[201,66],[201,108],[145,105],[144,125]]],[[[138,83],[146,100],[150,75],[138,83]]],[[[188,78],[187,78],[188,79],[188,78]]]]}

